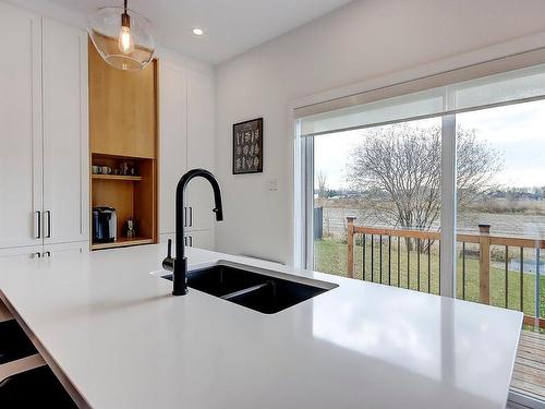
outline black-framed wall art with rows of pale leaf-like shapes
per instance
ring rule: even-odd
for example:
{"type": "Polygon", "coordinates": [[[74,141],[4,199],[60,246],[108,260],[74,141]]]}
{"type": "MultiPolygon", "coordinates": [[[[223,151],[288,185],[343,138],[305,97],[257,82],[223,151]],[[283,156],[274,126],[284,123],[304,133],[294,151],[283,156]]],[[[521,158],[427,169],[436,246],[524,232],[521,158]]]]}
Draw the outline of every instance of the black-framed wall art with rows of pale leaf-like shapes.
{"type": "Polygon", "coordinates": [[[263,172],[263,118],[233,125],[233,175],[263,172]]]}

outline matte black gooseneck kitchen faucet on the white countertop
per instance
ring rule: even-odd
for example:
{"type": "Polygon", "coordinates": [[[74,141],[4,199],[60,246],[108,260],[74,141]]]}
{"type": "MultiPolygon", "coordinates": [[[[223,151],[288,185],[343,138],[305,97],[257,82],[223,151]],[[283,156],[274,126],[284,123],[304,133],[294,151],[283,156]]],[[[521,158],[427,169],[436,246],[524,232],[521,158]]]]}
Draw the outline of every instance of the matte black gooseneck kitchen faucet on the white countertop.
{"type": "Polygon", "coordinates": [[[221,191],[219,190],[218,181],[214,175],[205,169],[192,169],[182,176],[178,182],[178,187],[175,188],[175,258],[172,258],[172,240],[169,240],[168,254],[162,261],[162,267],[172,272],[173,296],[185,296],[187,293],[187,258],[185,258],[184,255],[185,220],[183,218],[183,196],[185,194],[187,183],[196,177],[205,178],[208,182],[210,182],[211,189],[214,190],[214,201],[216,202],[216,207],[213,208],[213,212],[216,214],[216,220],[223,220],[221,191]]]}

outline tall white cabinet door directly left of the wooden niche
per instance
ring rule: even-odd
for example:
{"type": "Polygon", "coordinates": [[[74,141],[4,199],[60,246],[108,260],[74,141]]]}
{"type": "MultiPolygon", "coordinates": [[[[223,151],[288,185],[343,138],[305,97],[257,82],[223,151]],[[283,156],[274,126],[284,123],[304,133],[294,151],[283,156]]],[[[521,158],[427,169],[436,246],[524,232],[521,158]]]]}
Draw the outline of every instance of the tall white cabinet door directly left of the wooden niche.
{"type": "Polygon", "coordinates": [[[44,19],[44,241],[88,240],[87,35],[44,19]]]}

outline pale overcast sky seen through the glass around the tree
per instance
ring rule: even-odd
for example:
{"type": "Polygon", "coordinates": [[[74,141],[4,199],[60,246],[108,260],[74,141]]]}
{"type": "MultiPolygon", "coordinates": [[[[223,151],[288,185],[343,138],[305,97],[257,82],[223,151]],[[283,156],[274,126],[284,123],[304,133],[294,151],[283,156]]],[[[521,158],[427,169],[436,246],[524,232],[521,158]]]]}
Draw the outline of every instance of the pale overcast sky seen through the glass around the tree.
{"type": "MultiPolygon", "coordinates": [[[[519,104],[457,116],[463,128],[475,129],[504,157],[496,182],[502,187],[545,185],[545,100],[519,104]]],[[[439,119],[420,121],[428,127],[439,119]]],[[[315,171],[327,175],[329,189],[347,188],[349,153],[363,141],[364,131],[317,136],[314,142],[315,171]]]]}

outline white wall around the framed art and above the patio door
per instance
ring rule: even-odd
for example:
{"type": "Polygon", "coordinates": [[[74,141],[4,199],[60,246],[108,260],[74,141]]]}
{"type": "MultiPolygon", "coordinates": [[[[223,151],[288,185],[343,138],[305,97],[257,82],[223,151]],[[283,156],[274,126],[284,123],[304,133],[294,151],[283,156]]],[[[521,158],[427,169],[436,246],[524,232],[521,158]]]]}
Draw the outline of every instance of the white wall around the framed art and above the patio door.
{"type": "Polygon", "coordinates": [[[217,67],[216,168],[226,218],[218,251],[291,262],[295,100],[543,47],[544,15],[543,0],[354,1],[217,67]],[[265,121],[264,173],[233,176],[231,127],[256,117],[265,121]],[[267,191],[275,179],[278,191],[267,191]]]}

